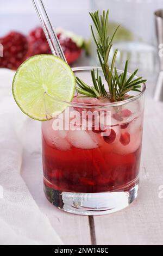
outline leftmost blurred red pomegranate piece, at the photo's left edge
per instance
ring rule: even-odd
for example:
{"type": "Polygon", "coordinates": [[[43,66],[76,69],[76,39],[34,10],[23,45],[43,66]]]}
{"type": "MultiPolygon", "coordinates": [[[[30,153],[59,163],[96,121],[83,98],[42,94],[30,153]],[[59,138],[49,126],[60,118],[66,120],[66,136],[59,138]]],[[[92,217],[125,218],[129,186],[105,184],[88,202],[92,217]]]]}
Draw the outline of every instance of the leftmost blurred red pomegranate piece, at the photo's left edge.
{"type": "Polygon", "coordinates": [[[0,38],[0,44],[3,45],[0,68],[16,70],[27,58],[28,40],[26,36],[12,31],[0,38]]]}

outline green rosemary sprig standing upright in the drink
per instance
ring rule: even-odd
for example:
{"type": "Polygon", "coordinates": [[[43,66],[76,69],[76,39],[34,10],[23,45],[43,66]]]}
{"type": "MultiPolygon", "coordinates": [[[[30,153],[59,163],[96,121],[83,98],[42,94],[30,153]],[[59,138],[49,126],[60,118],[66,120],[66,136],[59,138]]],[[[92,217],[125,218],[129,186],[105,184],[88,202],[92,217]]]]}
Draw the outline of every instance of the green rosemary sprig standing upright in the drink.
{"type": "Polygon", "coordinates": [[[109,10],[106,12],[106,14],[105,11],[103,11],[102,15],[99,15],[98,11],[95,11],[95,13],[90,13],[90,16],[97,31],[98,39],[95,36],[93,27],[91,26],[93,39],[95,40],[95,44],[97,46],[97,56],[99,63],[101,64],[106,83],[108,84],[108,92],[105,90],[102,77],[99,76],[98,69],[97,73],[95,70],[91,71],[93,87],[90,87],[88,84],[84,83],[77,77],[78,92],[82,95],[85,95],[86,97],[108,97],[112,101],[121,101],[126,99],[126,94],[130,90],[141,92],[141,84],[147,80],[142,80],[142,77],[136,78],[134,80],[134,76],[137,74],[138,70],[135,70],[133,74],[127,79],[128,60],[126,62],[124,71],[121,75],[118,75],[117,69],[115,68],[115,60],[118,49],[115,50],[114,56],[111,60],[111,66],[109,66],[109,56],[112,48],[112,41],[117,32],[117,29],[120,26],[116,28],[116,31],[112,35],[111,39],[109,39],[107,34],[109,10]]]}

